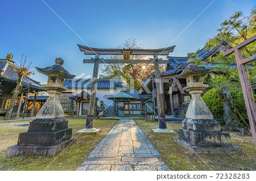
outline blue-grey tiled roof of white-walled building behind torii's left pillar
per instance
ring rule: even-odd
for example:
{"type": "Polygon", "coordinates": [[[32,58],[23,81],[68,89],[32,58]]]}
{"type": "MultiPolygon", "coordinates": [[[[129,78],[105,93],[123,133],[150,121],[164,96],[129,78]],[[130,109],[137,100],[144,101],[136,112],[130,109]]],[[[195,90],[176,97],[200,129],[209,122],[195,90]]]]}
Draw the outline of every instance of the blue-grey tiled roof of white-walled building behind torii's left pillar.
{"type": "MultiPolygon", "coordinates": [[[[71,89],[90,89],[92,87],[92,79],[65,79],[64,86],[71,89]]],[[[98,78],[97,79],[97,89],[115,89],[122,88],[122,81],[119,78],[116,79],[105,79],[98,78]]]]}

